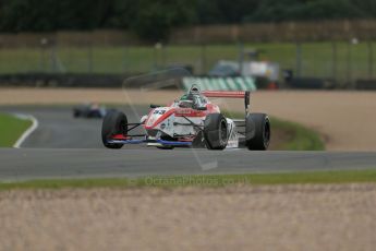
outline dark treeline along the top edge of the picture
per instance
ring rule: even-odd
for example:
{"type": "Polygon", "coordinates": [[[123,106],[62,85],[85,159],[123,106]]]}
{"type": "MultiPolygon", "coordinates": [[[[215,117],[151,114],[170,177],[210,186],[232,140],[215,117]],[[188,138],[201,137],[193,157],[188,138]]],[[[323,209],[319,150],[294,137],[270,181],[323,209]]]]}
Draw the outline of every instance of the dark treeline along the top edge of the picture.
{"type": "Polygon", "coordinates": [[[0,32],[122,28],[149,40],[189,25],[373,17],[375,0],[0,1],[0,32]]]}

